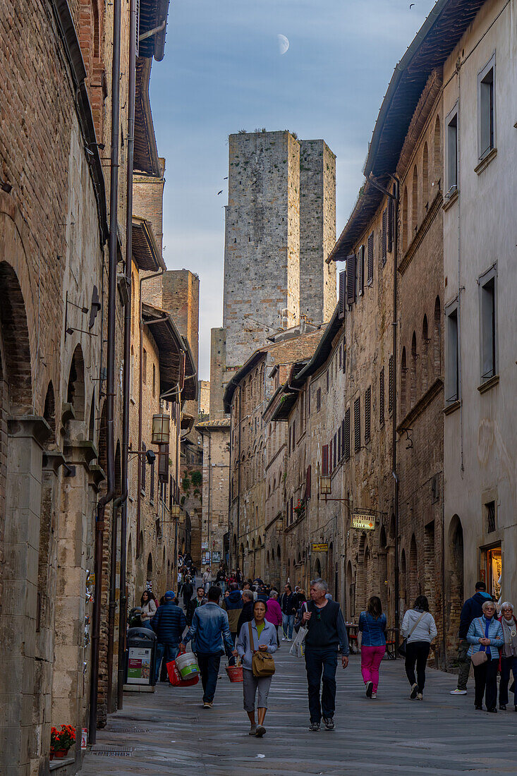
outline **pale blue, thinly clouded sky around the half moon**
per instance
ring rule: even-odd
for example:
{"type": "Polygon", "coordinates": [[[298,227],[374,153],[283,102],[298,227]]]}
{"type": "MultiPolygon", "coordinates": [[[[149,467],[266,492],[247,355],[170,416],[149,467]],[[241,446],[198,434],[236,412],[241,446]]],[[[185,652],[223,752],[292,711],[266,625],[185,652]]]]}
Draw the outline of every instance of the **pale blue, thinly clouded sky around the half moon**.
{"type": "Polygon", "coordinates": [[[265,126],[323,138],[337,156],[339,234],[394,66],[434,5],[410,2],[172,0],[151,106],[166,159],[165,261],[200,275],[202,379],[222,324],[227,136],[265,126]]]}

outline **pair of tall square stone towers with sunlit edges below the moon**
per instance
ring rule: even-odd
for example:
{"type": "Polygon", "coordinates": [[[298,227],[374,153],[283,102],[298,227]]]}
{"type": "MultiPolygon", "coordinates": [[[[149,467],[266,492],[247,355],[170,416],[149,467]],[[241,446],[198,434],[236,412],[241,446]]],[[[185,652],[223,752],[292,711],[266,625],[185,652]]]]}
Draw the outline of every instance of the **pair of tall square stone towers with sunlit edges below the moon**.
{"type": "Polygon", "coordinates": [[[323,140],[286,130],[230,135],[224,245],[227,367],[265,338],[300,322],[328,320],[335,267],[335,156],[323,140]],[[301,288],[301,284],[306,286],[301,288]]]}

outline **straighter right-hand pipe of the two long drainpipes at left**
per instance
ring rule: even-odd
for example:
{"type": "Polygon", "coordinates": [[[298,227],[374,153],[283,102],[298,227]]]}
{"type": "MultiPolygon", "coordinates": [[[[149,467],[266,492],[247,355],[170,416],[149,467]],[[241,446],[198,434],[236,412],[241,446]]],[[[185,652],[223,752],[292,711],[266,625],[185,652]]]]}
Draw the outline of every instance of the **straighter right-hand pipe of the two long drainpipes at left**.
{"type": "Polygon", "coordinates": [[[133,164],[134,164],[134,105],[136,99],[137,78],[137,0],[130,0],[130,40],[129,72],[127,95],[127,200],[126,200],[126,286],[127,304],[124,310],[124,374],[122,409],[122,496],[120,498],[120,595],[119,595],[119,666],[116,684],[117,707],[123,707],[123,684],[126,663],[126,569],[127,569],[127,496],[128,454],[129,454],[129,414],[131,379],[131,266],[133,257],[133,164]]]}

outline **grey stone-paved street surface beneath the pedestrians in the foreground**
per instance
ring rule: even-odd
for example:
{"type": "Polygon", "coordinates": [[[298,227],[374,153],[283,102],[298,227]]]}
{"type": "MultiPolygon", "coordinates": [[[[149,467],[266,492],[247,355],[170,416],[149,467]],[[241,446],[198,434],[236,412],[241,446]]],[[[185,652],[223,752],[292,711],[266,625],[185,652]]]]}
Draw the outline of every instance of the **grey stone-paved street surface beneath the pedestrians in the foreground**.
{"type": "Polygon", "coordinates": [[[211,710],[201,708],[200,684],[125,695],[95,745],[112,754],[88,753],[82,776],[515,774],[517,714],[475,712],[474,681],[456,698],[455,677],[428,670],[425,701],[410,701],[402,661],[384,660],[378,698],[369,701],[352,655],[348,669],[338,668],[335,731],[309,733],[304,663],[284,645],[276,664],[262,740],[248,736],[242,685],[222,669],[211,710]]]}

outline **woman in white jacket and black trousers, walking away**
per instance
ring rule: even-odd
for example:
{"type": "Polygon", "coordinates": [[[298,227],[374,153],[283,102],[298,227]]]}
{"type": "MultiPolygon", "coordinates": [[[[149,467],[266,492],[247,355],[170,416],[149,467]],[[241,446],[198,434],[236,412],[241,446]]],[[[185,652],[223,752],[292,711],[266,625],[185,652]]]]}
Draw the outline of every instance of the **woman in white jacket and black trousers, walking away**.
{"type": "Polygon", "coordinates": [[[411,684],[411,700],[424,699],[425,665],[429,657],[432,639],[435,638],[435,619],[429,614],[429,601],[419,595],[412,609],[408,609],[402,620],[402,636],[408,639],[406,646],[406,675],[411,684]],[[415,677],[416,663],[416,677],[415,677]]]}

